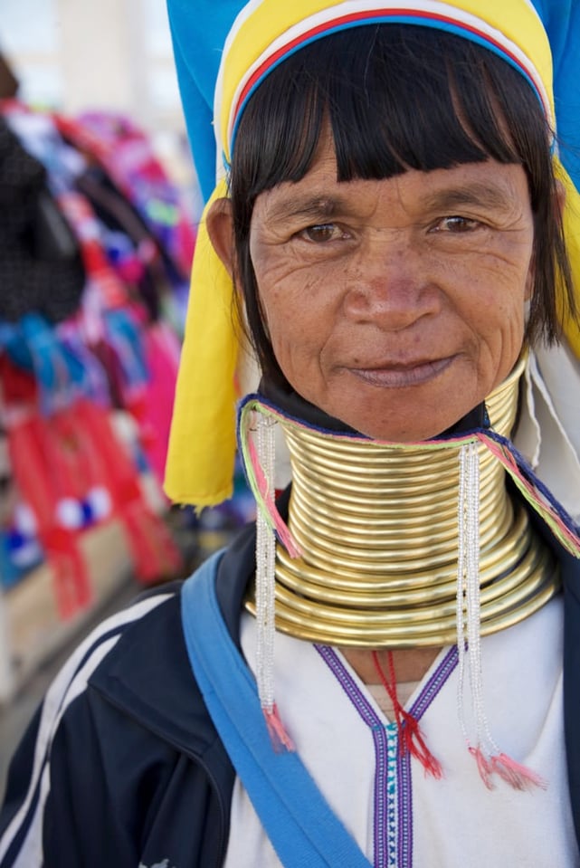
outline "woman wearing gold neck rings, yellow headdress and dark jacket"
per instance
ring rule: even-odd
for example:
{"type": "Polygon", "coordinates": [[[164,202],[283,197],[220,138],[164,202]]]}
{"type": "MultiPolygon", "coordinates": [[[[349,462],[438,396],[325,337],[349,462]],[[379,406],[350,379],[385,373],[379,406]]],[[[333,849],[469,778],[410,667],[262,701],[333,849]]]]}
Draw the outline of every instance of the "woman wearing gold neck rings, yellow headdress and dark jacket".
{"type": "Polygon", "coordinates": [[[0,868],[580,865],[578,203],[547,37],[571,51],[580,7],[254,0],[207,33],[201,6],[170,15],[206,194],[231,30],[167,490],[227,495],[243,324],[258,520],[71,657],[0,868]]]}

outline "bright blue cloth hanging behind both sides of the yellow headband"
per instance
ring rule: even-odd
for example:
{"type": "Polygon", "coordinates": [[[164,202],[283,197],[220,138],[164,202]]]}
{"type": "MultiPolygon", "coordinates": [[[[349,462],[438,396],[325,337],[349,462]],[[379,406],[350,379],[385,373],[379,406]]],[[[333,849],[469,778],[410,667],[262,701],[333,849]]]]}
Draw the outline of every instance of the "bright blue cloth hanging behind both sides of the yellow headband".
{"type": "MultiPolygon", "coordinates": [[[[580,189],[580,0],[531,2],[554,57],[560,157],[580,189]]],[[[244,0],[167,0],[187,134],[205,200],[215,186],[215,81],[223,43],[244,5],[244,0]]]]}

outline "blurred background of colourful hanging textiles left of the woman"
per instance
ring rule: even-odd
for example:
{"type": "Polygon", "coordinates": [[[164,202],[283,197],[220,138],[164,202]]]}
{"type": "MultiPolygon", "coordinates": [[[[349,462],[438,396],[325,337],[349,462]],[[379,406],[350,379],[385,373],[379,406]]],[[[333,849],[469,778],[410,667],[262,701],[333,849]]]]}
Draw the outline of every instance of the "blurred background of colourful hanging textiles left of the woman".
{"type": "Polygon", "coordinates": [[[0,795],[71,645],[252,518],[161,489],[200,213],[164,0],[0,0],[0,795]]]}

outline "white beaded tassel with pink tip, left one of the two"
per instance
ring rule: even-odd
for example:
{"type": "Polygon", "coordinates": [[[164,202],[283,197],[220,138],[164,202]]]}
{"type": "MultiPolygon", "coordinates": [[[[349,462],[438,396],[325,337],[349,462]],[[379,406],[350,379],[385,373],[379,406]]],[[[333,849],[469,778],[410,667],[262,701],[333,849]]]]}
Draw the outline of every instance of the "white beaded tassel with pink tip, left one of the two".
{"type": "MultiPolygon", "coordinates": [[[[258,465],[264,485],[263,497],[271,507],[274,501],[274,425],[268,416],[258,414],[258,465]]],[[[256,681],[261,710],[275,750],[293,750],[274,701],[276,536],[263,510],[256,518],[256,681]]]]}

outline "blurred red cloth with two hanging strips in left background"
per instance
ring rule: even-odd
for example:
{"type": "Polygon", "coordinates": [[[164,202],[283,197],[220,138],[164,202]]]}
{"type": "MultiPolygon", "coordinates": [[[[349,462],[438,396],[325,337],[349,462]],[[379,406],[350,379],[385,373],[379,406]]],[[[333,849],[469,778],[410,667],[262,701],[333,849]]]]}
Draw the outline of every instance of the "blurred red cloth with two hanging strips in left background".
{"type": "Polygon", "coordinates": [[[79,548],[82,529],[62,527],[57,506],[83,501],[95,488],[109,491],[112,511],[126,533],[136,576],[152,582],[175,575],[182,558],[166,525],[147,505],[138,472],[109,421],[86,399],[43,418],[31,415],[8,431],[10,461],[23,500],[33,510],[38,538],[51,563],[62,617],[90,604],[88,566],[79,548]]]}

